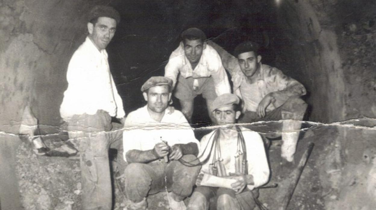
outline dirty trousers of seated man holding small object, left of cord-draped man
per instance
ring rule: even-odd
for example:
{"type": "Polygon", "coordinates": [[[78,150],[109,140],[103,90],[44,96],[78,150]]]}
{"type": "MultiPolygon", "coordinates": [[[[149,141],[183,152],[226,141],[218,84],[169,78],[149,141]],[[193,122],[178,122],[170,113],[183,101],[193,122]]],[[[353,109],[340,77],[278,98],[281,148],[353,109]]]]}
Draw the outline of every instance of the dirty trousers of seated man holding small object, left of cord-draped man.
{"type": "MultiPolygon", "coordinates": [[[[194,155],[184,155],[186,162],[198,164],[194,155]]],[[[165,163],[163,159],[151,163],[130,163],[124,172],[125,192],[132,202],[141,202],[147,195],[165,190],[181,198],[190,196],[201,166],[185,166],[177,160],[165,163]],[[165,177],[166,180],[165,180],[165,177]]]]}

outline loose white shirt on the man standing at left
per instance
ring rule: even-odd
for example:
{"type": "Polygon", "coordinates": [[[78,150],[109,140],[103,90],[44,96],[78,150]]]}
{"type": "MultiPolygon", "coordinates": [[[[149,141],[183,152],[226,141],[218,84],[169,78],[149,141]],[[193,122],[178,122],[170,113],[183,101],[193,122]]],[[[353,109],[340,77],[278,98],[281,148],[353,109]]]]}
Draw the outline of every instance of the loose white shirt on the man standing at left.
{"type": "Polygon", "coordinates": [[[106,50],[99,51],[86,37],[74,52],[67,70],[68,88],[60,106],[60,115],[93,115],[104,110],[111,116],[123,118],[123,101],[111,76],[106,50]]]}

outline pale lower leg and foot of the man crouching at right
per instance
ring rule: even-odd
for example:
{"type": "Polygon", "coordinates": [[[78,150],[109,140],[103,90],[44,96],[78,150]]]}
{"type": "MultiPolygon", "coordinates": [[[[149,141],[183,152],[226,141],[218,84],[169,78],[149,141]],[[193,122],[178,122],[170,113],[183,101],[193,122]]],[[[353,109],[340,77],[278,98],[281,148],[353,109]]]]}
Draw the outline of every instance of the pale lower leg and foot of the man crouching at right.
{"type": "Polygon", "coordinates": [[[300,127],[302,122],[297,116],[299,114],[282,111],[282,147],[281,157],[288,162],[294,161],[294,153],[296,151],[296,145],[299,140],[300,127]]]}

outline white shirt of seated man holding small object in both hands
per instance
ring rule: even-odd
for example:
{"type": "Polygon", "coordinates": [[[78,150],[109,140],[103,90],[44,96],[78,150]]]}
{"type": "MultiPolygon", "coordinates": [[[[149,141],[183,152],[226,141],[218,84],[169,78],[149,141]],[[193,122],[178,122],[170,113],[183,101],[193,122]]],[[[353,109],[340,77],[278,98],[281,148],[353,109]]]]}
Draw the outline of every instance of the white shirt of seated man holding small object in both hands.
{"type": "Polygon", "coordinates": [[[124,160],[129,150],[152,150],[154,146],[166,141],[171,147],[174,144],[188,144],[194,142],[199,148],[200,143],[194,136],[193,130],[183,113],[174,110],[165,114],[161,122],[150,117],[147,105],[130,112],[124,123],[123,147],[124,160]]]}

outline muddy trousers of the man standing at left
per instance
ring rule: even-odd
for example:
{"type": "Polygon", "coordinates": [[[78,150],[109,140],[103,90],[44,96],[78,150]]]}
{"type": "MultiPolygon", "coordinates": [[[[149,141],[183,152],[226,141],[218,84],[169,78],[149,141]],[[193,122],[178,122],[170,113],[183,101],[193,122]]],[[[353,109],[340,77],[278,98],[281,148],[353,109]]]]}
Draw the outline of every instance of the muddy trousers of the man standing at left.
{"type": "Polygon", "coordinates": [[[122,130],[111,131],[111,116],[102,110],[94,115],[74,115],[67,124],[69,139],[80,153],[82,209],[111,209],[108,150],[111,145],[120,153],[122,130]]]}

